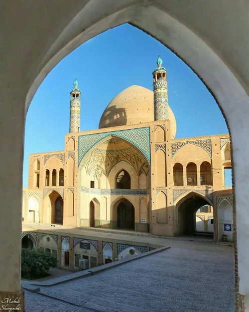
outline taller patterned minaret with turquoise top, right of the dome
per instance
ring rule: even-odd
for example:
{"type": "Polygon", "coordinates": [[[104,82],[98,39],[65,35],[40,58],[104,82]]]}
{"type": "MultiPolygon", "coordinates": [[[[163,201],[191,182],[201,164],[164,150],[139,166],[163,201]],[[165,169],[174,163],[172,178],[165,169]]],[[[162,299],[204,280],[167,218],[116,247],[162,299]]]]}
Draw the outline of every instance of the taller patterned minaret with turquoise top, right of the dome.
{"type": "Polygon", "coordinates": [[[153,71],[154,120],[168,119],[168,86],[167,70],[162,67],[162,59],[158,55],[157,68],[153,71]]]}

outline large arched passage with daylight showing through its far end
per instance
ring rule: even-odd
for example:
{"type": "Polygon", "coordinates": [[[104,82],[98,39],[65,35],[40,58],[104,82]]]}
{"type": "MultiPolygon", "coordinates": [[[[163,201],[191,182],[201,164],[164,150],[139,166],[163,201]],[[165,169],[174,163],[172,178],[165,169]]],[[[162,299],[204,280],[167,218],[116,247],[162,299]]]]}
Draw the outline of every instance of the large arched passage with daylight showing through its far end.
{"type": "Polygon", "coordinates": [[[202,207],[211,207],[210,203],[201,195],[192,193],[187,195],[177,204],[177,235],[194,236],[202,235],[213,239],[213,233],[208,232],[205,214],[200,212],[202,207]],[[198,213],[197,213],[198,212],[198,213]]]}

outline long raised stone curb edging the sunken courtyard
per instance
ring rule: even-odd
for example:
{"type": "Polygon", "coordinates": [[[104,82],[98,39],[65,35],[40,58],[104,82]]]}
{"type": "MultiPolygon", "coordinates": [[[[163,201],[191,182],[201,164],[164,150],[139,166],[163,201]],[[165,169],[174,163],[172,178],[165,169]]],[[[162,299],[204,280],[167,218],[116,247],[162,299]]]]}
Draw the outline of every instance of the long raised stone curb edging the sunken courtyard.
{"type": "Polygon", "coordinates": [[[143,253],[143,254],[140,254],[140,255],[136,255],[136,256],[134,256],[132,258],[128,258],[128,259],[124,259],[124,260],[119,260],[119,261],[115,261],[115,262],[112,262],[112,263],[108,263],[106,265],[98,266],[98,267],[92,268],[92,269],[87,270],[87,271],[85,270],[85,271],[72,273],[72,274],[69,274],[69,275],[65,275],[63,277],[52,279],[52,280],[47,281],[47,282],[44,281],[44,282],[40,282],[40,283],[39,282],[30,282],[30,283],[28,283],[27,281],[25,281],[24,283],[22,283],[22,288],[37,293],[38,286],[43,286],[43,287],[54,286],[54,285],[58,285],[58,284],[61,284],[61,283],[64,283],[64,282],[68,282],[68,281],[72,281],[72,280],[76,280],[76,279],[92,276],[94,274],[97,274],[97,273],[106,271],[108,269],[120,266],[120,265],[122,265],[124,263],[130,262],[130,261],[133,261],[133,260],[137,260],[137,259],[140,259],[142,257],[146,257],[146,256],[149,256],[149,255],[152,255],[152,254],[155,254],[155,253],[167,250],[169,248],[170,247],[161,247],[161,248],[158,248],[158,249],[155,249],[155,250],[151,250],[149,252],[146,252],[146,253],[143,253]]]}

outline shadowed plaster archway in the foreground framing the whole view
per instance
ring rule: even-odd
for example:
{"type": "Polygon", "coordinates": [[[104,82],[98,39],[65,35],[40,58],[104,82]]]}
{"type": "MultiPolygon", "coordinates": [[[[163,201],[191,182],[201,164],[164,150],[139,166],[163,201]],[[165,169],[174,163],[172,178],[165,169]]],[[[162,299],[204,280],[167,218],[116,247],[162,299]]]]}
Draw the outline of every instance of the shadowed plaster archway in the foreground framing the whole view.
{"type": "Polygon", "coordinates": [[[25,113],[30,101],[47,73],[74,48],[106,29],[131,22],[168,44],[180,55],[212,90],[227,117],[233,144],[233,177],[236,185],[235,232],[239,238],[235,246],[236,255],[238,253],[236,264],[239,259],[236,283],[241,295],[237,305],[249,310],[249,184],[245,184],[249,176],[249,43],[242,39],[248,38],[247,3],[244,0],[230,0],[229,5],[227,1],[196,0],[183,3],[180,0],[112,0],[105,9],[97,0],[73,1],[70,6],[66,5],[66,1],[60,4],[58,11],[56,1],[49,3],[49,10],[37,1],[28,7],[17,2],[13,10],[11,3],[6,1],[0,11],[4,25],[0,35],[5,44],[1,50],[3,61],[0,68],[0,228],[6,234],[0,237],[0,292],[20,291],[20,260],[16,257],[20,254],[21,232],[20,168],[25,113]],[[226,14],[222,14],[225,10],[226,14]],[[53,19],[49,18],[51,12],[56,12],[53,19]],[[40,18],[41,15],[43,18],[40,18]],[[239,22],[234,16],[240,16],[239,22]],[[55,18],[60,22],[55,22],[55,18]],[[25,20],[25,24],[22,20],[25,20]],[[39,29],[42,29],[38,41],[35,31],[37,21],[39,29]],[[217,27],[217,24],[221,27],[217,27]],[[241,35],[233,35],[236,33],[241,35]],[[25,47],[25,53],[12,54],[11,51],[22,46],[25,47]],[[32,55],[28,62],[26,55],[32,55]],[[14,67],[10,66],[12,63],[14,67]],[[12,85],[15,88],[9,92],[12,85]],[[15,235],[7,235],[13,232],[15,235]]]}

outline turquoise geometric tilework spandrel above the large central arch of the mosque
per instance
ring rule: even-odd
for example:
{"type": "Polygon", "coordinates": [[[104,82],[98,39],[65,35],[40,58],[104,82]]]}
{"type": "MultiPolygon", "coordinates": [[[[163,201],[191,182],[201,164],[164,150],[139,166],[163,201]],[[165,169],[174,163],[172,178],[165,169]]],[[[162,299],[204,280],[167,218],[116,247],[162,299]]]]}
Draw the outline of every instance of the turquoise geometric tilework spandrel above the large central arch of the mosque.
{"type": "Polygon", "coordinates": [[[107,136],[114,135],[121,137],[130,143],[134,144],[139,150],[141,150],[148,161],[150,162],[150,132],[149,127],[112,131],[97,134],[87,134],[79,136],[79,155],[78,155],[78,166],[86,155],[86,153],[100,140],[107,136]]]}

